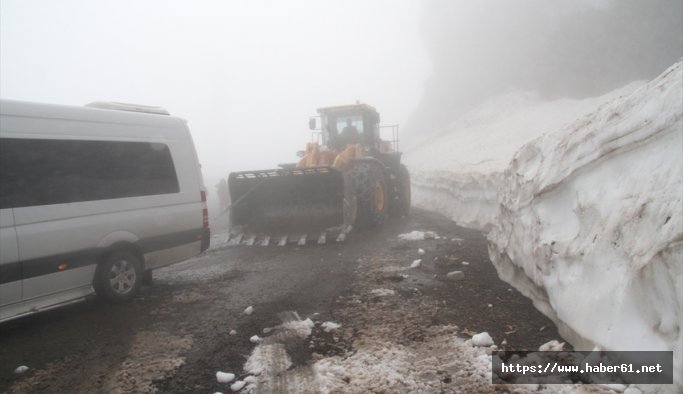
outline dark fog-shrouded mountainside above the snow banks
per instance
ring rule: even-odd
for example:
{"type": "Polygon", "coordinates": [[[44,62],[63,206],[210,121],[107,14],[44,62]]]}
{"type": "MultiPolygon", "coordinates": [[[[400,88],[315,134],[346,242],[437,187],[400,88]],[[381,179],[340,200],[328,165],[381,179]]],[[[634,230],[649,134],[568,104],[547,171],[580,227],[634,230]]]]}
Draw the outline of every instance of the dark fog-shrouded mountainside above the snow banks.
{"type": "Polygon", "coordinates": [[[597,96],[683,56],[681,0],[428,0],[421,28],[434,72],[413,137],[497,94],[597,96]]]}

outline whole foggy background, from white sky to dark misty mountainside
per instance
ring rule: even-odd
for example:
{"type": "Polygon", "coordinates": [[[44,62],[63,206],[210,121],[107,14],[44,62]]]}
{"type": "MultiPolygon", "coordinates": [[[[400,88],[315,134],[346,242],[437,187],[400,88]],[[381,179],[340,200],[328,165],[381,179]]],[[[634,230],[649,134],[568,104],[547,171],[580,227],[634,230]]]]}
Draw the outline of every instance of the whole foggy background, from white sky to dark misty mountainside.
{"type": "Polygon", "coordinates": [[[652,78],[683,56],[682,4],[2,0],[0,97],[163,106],[188,120],[212,190],[296,160],[319,107],[369,103],[410,142],[503,92],[652,78]]]}

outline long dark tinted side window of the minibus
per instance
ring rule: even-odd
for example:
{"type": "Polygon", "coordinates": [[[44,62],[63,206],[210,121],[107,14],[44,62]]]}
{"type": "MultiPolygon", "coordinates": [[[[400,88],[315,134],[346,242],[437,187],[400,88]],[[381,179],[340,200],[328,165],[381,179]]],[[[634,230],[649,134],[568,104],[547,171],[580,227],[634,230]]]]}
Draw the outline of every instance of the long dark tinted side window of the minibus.
{"type": "Polygon", "coordinates": [[[167,145],[2,138],[0,208],[180,191],[167,145]]]}

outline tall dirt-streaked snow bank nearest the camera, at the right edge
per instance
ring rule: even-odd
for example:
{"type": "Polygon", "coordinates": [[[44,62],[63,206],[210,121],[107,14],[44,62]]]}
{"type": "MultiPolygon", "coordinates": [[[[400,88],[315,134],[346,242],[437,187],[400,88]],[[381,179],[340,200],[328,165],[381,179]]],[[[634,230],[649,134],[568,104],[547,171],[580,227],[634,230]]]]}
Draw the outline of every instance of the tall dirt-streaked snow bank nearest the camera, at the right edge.
{"type": "Polygon", "coordinates": [[[673,350],[683,385],[681,62],[525,145],[489,233],[498,273],[575,346],[673,350]]]}

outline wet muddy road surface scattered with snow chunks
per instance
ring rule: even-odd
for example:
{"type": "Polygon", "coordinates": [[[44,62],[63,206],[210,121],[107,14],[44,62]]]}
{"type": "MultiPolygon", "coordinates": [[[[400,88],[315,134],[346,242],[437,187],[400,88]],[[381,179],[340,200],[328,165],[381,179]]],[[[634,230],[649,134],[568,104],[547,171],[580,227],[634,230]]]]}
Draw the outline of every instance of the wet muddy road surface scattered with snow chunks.
{"type": "Polygon", "coordinates": [[[384,383],[340,365],[372,355],[361,348],[378,337],[437,364],[457,350],[431,339],[487,331],[512,349],[561,339],[498,279],[483,234],[436,214],[414,210],[339,244],[225,247],[220,239],[155,271],[130,303],[91,299],[0,325],[0,393],[232,392],[237,380],[246,380],[242,392],[491,392],[485,376],[461,377],[445,361],[451,367],[425,364],[409,382],[384,383]],[[398,238],[416,230],[438,238],[398,238]],[[456,270],[464,278],[448,277],[456,270]],[[29,369],[15,373],[21,365],[29,369]],[[235,381],[219,383],[217,371],[235,381]]]}

